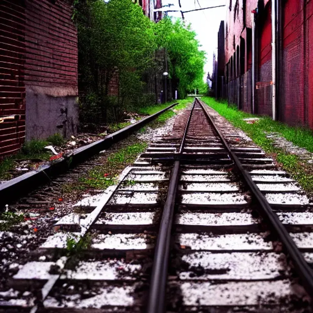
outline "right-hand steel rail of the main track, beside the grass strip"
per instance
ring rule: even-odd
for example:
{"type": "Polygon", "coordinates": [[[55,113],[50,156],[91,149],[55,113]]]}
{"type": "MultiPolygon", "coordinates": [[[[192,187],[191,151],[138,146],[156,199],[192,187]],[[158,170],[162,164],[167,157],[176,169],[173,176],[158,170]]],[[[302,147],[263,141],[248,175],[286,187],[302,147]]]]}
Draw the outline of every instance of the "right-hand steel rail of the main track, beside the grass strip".
{"type": "Polygon", "coordinates": [[[310,268],[310,266],[305,261],[303,255],[300,253],[298,247],[296,246],[295,242],[290,237],[289,233],[287,232],[285,226],[281,223],[280,219],[278,218],[277,214],[275,214],[269,205],[268,201],[260,191],[259,187],[255,184],[255,182],[252,180],[251,175],[247,170],[244,169],[241,162],[239,161],[238,157],[233,153],[231,148],[228,146],[224,136],[222,135],[221,131],[218,129],[216,124],[214,123],[211,116],[208,114],[207,110],[203,107],[203,104],[198,100],[198,98],[195,98],[195,102],[198,101],[200,106],[203,109],[204,114],[208,118],[208,120],[211,122],[214,130],[218,134],[218,136],[223,141],[224,146],[228,150],[229,156],[233,159],[236,167],[239,170],[239,173],[244,178],[244,181],[248,185],[250,191],[253,193],[255,198],[258,200],[261,208],[262,213],[265,216],[265,218],[269,221],[271,226],[274,228],[276,233],[278,234],[281,242],[285,246],[286,251],[290,255],[290,258],[293,261],[293,264],[297,270],[298,275],[300,276],[300,279],[302,280],[302,283],[305,287],[305,291],[313,297],[313,271],[310,268]]]}

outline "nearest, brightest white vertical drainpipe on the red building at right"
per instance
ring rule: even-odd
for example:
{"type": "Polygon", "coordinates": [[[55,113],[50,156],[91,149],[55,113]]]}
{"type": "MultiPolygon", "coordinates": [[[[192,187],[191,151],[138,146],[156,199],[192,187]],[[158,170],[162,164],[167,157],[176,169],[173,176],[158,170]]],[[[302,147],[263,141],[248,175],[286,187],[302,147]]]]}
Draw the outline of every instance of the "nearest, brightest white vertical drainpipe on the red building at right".
{"type": "Polygon", "coordinates": [[[276,2],[272,0],[272,112],[273,121],[276,120],[276,2]]]}

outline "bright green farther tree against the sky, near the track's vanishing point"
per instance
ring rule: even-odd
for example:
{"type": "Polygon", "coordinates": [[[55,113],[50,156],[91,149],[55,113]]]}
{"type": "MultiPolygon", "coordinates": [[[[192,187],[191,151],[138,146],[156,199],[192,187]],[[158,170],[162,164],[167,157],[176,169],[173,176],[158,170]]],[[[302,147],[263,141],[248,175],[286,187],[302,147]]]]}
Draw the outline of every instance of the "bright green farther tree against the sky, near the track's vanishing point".
{"type": "Polygon", "coordinates": [[[200,50],[191,26],[185,25],[181,19],[173,22],[170,18],[163,18],[154,29],[158,47],[167,49],[169,75],[179,97],[183,99],[187,92],[203,88],[205,52],[200,50]]]}

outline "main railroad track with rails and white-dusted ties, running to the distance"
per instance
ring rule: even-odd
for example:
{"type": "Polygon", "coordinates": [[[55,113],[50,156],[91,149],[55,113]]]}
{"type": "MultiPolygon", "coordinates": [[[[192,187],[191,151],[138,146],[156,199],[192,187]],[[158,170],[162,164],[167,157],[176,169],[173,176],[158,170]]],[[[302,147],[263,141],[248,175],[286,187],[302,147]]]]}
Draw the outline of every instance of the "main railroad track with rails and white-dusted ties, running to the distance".
{"type": "Polygon", "coordinates": [[[311,312],[310,200],[198,99],[92,206],[56,223],[4,310],[311,312]]]}

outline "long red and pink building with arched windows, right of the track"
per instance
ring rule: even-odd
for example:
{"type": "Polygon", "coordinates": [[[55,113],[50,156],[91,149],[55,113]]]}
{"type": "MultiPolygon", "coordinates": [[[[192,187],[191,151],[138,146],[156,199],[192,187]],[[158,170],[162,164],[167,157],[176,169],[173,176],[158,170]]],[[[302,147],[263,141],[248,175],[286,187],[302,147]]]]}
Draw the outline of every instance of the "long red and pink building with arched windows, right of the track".
{"type": "Polygon", "coordinates": [[[228,0],[224,42],[218,33],[225,69],[217,96],[224,92],[240,109],[313,128],[312,15],[312,0],[228,0]]]}

